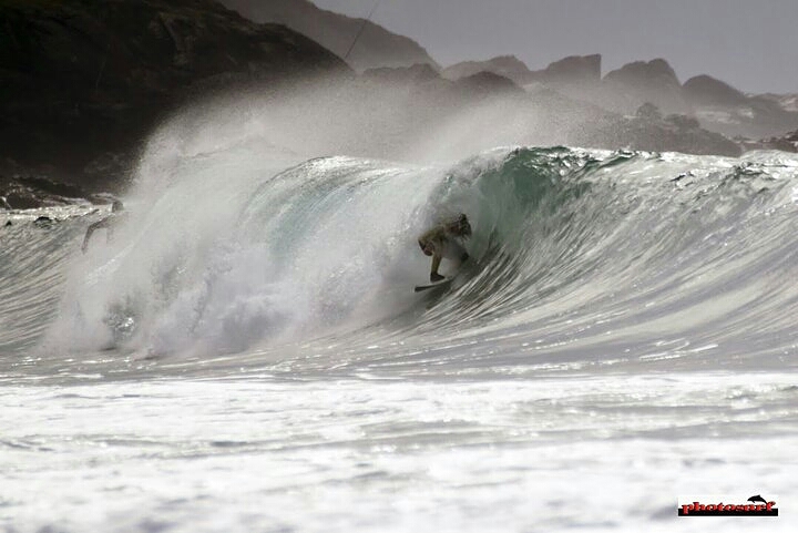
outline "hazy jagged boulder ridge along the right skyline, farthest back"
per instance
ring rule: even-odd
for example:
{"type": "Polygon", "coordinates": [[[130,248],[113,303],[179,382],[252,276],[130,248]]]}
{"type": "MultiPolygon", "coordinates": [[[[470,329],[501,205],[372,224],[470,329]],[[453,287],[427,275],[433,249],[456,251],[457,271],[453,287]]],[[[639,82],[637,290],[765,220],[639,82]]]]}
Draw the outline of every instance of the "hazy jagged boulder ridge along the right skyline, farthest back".
{"type": "MultiPolygon", "coordinates": [[[[628,63],[604,78],[601,63],[598,54],[575,55],[555,61],[543,70],[531,71],[514,57],[501,57],[458,63],[446,69],[443,74],[456,80],[479,71],[492,72],[522,86],[543,84],[570,99],[626,116],[633,116],[641,105],[649,103],[665,114],[693,116],[704,129],[729,137],[774,139],[798,127],[798,98],[795,94],[748,95],[709,75],[698,75],[682,84],[664,59],[628,63]]],[[[666,139],[669,131],[669,127],[659,127],[654,136],[666,139]]],[[[750,141],[755,145],[764,142],[750,141]]],[[[728,152],[725,146],[724,153],[728,152]]]]}

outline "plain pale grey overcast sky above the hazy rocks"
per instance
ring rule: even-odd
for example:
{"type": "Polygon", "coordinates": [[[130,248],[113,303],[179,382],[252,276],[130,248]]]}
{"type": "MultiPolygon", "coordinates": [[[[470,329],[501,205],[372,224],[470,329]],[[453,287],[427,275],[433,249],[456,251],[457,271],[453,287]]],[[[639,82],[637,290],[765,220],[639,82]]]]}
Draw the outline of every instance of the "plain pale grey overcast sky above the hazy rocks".
{"type": "MultiPolygon", "coordinates": [[[[376,0],[313,0],[366,17],[376,0]]],[[[665,58],[682,82],[798,92],[798,0],[380,0],[374,21],[443,66],[514,54],[538,70],[601,53],[603,70],[665,58]]]]}

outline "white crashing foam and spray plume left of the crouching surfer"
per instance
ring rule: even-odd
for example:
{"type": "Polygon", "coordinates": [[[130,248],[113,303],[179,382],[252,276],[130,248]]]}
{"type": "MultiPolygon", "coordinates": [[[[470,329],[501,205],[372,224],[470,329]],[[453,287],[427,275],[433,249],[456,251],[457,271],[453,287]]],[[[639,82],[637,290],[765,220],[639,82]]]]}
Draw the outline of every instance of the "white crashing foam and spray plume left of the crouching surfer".
{"type": "Polygon", "coordinates": [[[416,236],[475,202],[433,197],[451,162],[515,127],[487,127],[509,102],[452,117],[421,96],[323,80],[176,113],[147,142],[114,242],[69,260],[44,351],[242,351],[417,305],[416,236]]]}

